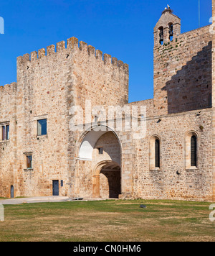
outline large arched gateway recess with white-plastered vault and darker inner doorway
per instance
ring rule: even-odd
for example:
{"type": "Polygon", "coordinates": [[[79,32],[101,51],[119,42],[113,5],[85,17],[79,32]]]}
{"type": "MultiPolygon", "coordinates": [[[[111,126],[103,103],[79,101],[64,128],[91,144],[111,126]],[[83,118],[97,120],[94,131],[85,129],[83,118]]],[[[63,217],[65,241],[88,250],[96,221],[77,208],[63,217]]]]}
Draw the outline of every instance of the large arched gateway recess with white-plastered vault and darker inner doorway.
{"type": "MultiPolygon", "coordinates": [[[[85,174],[85,177],[89,177],[86,174],[85,165],[92,166],[91,178],[89,177],[88,180],[92,180],[91,196],[93,198],[119,198],[121,143],[113,130],[95,132],[95,129],[92,129],[86,132],[80,142],[78,159],[82,162],[80,171],[85,174]]],[[[80,180],[80,182],[84,181],[80,180]]],[[[85,191],[82,191],[82,194],[85,195],[85,191]]]]}

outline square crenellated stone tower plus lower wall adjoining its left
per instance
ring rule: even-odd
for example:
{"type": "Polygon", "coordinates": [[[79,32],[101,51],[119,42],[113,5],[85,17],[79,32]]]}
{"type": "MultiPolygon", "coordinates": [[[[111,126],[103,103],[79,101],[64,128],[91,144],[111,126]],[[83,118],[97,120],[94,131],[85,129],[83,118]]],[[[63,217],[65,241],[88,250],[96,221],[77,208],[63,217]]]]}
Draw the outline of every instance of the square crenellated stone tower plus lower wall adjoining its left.
{"type": "MultiPolygon", "coordinates": [[[[128,104],[128,65],[72,37],[17,58],[17,83],[1,87],[0,124],[11,138],[1,142],[0,194],[46,196],[52,180],[64,180],[69,195],[75,173],[72,106],[128,104]],[[10,104],[8,104],[10,102],[10,104]],[[47,119],[47,134],[37,136],[37,120],[47,119]],[[34,165],[27,169],[26,155],[34,165]],[[47,183],[47,180],[49,182],[47,183]]],[[[94,116],[90,122],[94,122],[94,116]]],[[[0,127],[1,129],[1,127],[0,127]]],[[[2,128],[3,129],[3,128],[2,128]]]]}

